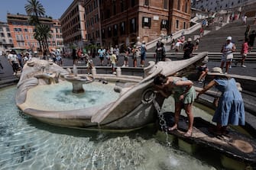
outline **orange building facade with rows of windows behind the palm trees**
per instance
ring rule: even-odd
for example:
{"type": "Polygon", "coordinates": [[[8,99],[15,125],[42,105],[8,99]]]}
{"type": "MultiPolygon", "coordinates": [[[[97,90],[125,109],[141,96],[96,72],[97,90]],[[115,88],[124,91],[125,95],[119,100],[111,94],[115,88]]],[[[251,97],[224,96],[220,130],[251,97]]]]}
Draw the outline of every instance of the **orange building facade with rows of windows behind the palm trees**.
{"type": "MultiPolygon", "coordinates": [[[[24,14],[7,14],[8,27],[11,33],[14,47],[37,51],[40,45],[34,39],[34,26],[28,23],[29,16],[24,14]]],[[[50,26],[51,38],[48,39],[49,50],[63,48],[63,38],[60,30],[60,22],[52,18],[39,18],[41,24],[50,26]]]]}

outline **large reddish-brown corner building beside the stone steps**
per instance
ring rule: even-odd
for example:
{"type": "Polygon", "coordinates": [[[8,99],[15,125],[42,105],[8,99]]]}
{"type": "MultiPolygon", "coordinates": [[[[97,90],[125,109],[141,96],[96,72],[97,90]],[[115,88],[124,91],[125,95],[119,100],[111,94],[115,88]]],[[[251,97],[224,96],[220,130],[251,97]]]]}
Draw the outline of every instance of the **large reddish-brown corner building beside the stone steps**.
{"type": "Polygon", "coordinates": [[[127,47],[138,36],[149,42],[190,27],[190,7],[190,0],[85,0],[87,37],[104,47],[127,47]]]}

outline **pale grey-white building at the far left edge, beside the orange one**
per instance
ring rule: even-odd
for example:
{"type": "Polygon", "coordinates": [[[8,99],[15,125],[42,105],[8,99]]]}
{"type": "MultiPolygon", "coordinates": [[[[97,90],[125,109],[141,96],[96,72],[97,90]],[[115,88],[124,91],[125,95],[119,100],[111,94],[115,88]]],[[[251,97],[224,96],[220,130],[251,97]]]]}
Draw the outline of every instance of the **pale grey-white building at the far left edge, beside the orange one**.
{"type": "Polygon", "coordinates": [[[11,31],[7,23],[0,22],[0,51],[5,52],[14,47],[11,31]]]}

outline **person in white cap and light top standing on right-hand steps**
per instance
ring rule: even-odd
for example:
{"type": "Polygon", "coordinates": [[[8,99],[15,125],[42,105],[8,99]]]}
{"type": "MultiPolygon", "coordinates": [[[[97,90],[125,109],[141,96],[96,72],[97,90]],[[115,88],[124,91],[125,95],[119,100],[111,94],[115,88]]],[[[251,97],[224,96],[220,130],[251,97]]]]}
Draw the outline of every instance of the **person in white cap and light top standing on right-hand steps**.
{"type": "Polygon", "coordinates": [[[227,43],[222,46],[222,59],[220,64],[220,68],[222,69],[225,64],[225,74],[228,73],[228,69],[230,68],[233,59],[233,52],[235,51],[235,43],[232,43],[232,37],[227,37],[226,40],[227,43]]]}

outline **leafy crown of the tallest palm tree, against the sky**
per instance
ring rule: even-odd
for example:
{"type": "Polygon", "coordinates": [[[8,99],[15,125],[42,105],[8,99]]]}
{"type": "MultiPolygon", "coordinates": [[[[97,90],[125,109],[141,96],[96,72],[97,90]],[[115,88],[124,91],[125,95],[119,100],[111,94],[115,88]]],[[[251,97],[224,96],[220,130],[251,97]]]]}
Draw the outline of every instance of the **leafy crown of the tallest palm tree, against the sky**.
{"type": "Polygon", "coordinates": [[[39,24],[39,17],[44,16],[45,10],[41,2],[38,0],[28,0],[28,4],[25,5],[25,10],[29,16],[31,16],[31,24],[39,24]]]}

